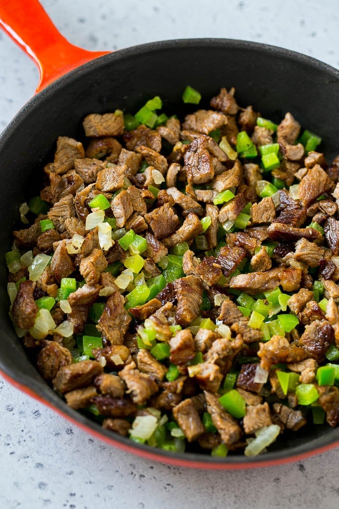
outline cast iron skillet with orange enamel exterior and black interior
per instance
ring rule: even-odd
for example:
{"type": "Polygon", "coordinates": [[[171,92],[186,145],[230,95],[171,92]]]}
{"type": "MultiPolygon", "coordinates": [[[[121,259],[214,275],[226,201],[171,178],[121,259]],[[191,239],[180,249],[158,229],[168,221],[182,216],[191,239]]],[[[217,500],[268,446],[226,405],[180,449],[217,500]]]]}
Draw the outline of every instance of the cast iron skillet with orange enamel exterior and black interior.
{"type": "MultiPolygon", "coordinates": [[[[234,86],[240,105],[252,104],[263,116],[278,122],[286,111],[291,111],[301,125],[322,136],[328,161],[339,153],[339,71],[304,55],[252,42],[193,39],[145,44],[97,58],[103,53],[70,45],[37,0],[2,0],[0,22],[39,63],[39,89],[51,83],[21,109],[0,139],[2,254],[10,249],[19,204],[37,194],[41,169],[53,156],[57,136],[82,140],[81,121],[92,112],[116,108],[134,112],[145,100],[160,95],[166,112],[180,114],[181,93],[187,84],[205,98],[199,105],[202,107],[208,107],[208,99],[221,87],[234,86]],[[63,75],[80,64],[83,65],[63,75]],[[53,82],[55,78],[58,79],[53,82]]],[[[2,374],[87,432],[153,460],[218,469],[285,463],[339,445],[339,429],[317,426],[280,437],[262,456],[220,459],[195,453],[166,453],[102,429],[69,408],[29,361],[8,318],[7,269],[3,256],[1,260],[2,374]]]]}

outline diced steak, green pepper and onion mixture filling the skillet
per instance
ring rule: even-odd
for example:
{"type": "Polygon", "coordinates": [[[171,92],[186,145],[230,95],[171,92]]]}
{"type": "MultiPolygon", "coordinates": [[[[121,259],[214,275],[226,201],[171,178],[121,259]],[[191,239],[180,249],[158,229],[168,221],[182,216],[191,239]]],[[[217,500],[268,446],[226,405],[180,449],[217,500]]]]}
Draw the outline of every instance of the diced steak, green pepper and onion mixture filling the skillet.
{"type": "Polygon", "coordinates": [[[255,456],[339,422],[339,156],[234,89],[207,107],[168,118],[155,97],[58,138],[6,254],[10,316],[104,428],[255,456]]]}

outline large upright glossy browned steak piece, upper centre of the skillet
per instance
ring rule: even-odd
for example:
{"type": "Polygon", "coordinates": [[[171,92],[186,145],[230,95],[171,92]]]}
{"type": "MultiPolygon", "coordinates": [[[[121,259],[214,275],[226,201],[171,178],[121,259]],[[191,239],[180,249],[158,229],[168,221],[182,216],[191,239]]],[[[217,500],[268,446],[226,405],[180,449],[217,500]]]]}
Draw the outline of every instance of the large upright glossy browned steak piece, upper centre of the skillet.
{"type": "Polygon", "coordinates": [[[189,184],[203,184],[214,176],[207,139],[199,136],[192,140],[183,156],[189,184]]]}

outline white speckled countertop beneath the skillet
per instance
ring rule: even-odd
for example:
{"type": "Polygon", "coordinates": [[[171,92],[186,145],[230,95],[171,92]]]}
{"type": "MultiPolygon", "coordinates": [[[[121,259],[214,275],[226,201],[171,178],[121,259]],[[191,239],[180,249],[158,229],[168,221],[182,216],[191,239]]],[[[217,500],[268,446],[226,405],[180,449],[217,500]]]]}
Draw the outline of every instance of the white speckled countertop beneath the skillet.
{"type": "MultiPolygon", "coordinates": [[[[26,0],[22,0],[26,1],[26,0]]],[[[43,0],[58,29],[87,49],[227,37],[265,42],[339,67],[336,0],[43,0]]],[[[34,64],[0,32],[0,127],[34,93],[34,64]]],[[[339,449],[288,465],[198,471],[112,448],[0,379],[1,509],[337,507],[339,449]],[[338,462],[338,463],[336,463],[338,462]]]]}

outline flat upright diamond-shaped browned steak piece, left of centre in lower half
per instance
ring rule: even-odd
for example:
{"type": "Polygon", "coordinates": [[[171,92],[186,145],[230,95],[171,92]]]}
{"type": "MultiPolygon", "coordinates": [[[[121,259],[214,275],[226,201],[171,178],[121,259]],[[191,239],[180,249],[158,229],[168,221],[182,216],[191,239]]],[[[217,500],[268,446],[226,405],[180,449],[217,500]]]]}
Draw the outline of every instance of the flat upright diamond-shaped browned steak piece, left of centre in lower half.
{"type": "Polygon", "coordinates": [[[131,323],[131,317],[125,307],[125,298],[114,292],[106,302],[104,312],[101,315],[97,329],[102,332],[111,345],[122,345],[124,335],[131,323]]]}

